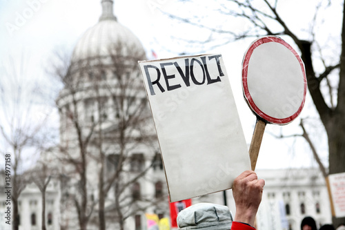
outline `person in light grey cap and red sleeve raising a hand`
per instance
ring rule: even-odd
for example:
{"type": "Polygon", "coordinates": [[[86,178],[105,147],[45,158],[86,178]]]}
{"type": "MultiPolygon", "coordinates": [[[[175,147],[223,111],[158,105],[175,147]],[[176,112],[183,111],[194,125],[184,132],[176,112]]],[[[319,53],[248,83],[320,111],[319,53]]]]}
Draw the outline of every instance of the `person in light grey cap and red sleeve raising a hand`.
{"type": "Polygon", "coordinates": [[[179,229],[255,230],[257,209],[262,200],[265,181],[258,180],[254,171],[244,171],[233,183],[235,219],[228,207],[219,204],[194,204],[177,215],[179,229]]]}

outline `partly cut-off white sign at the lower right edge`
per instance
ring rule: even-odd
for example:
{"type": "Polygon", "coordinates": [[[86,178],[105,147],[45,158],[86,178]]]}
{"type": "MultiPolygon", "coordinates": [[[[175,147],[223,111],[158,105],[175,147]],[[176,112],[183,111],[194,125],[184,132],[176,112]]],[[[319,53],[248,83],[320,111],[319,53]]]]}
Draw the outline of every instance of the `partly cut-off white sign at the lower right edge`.
{"type": "Polygon", "coordinates": [[[345,217],[345,173],[328,175],[336,218],[345,217]]]}

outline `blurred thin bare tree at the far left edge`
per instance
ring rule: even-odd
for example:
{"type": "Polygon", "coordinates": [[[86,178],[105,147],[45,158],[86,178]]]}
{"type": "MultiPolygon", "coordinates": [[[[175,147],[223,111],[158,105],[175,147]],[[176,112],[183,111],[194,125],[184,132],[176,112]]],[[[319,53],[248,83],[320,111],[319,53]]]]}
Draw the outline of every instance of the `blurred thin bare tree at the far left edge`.
{"type": "Polygon", "coordinates": [[[23,175],[30,163],[34,163],[37,157],[35,153],[43,148],[43,143],[50,137],[43,134],[50,111],[37,113],[39,103],[42,102],[41,95],[37,94],[40,85],[37,79],[28,77],[30,61],[27,55],[22,54],[19,60],[8,57],[1,64],[1,153],[11,155],[12,229],[17,230],[18,199],[26,186],[26,178],[23,175]]]}

